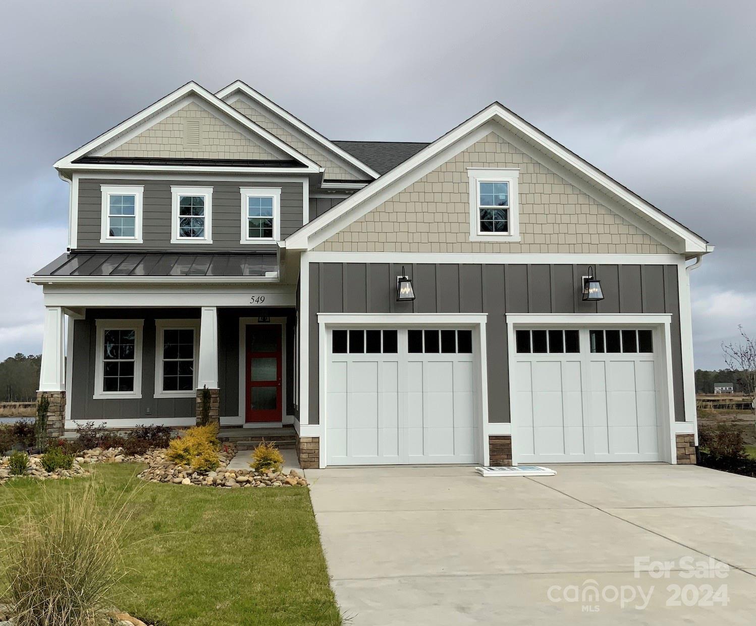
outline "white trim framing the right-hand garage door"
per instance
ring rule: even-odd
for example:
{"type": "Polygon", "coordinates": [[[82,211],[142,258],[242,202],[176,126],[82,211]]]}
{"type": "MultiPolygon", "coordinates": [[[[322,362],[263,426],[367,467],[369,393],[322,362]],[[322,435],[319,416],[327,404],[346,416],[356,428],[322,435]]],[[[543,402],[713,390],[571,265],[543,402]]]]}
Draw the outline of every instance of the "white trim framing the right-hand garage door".
{"type": "MultiPolygon", "coordinates": [[[[655,361],[660,366],[658,380],[662,383],[664,389],[661,390],[662,401],[661,411],[658,419],[662,422],[662,439],[660,441],[659,456],[667,463],[677,463],[676,444],[674,441],[674,383],[673,363],[671,352],[671,313],[522,313],[516,315],[507,315],[507,360],[508,370],[510,372],[510,432],[515,432],[517,428],[517,407],[516,407],[516,389],[511,384],[512,372],[515,371],[517,360],[515,330],[518,326],[533,327],[565,327],[579,326],[587,327],[650,327],[657,330],[655,336],[655,361]],[[658,340],[658,341],[657,341],[658,340]]],[[[585,358],[586,353],[581,350],[581,358],[585,358]]],[[[518,463],[519,442],[516,436],[512,437],[512,463],[518,463]]]]}

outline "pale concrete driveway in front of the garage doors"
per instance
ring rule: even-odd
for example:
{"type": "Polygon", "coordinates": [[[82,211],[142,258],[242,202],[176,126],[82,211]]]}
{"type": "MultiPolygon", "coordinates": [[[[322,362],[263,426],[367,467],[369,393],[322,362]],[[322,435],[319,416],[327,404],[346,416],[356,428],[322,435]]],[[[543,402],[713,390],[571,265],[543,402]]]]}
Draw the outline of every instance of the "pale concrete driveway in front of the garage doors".
{"type": "Polygon", "coordinates": [[[349,623],[754,623],[756,479],[656,463],[553,468],[533,479],[307,470],[349,623]]]}

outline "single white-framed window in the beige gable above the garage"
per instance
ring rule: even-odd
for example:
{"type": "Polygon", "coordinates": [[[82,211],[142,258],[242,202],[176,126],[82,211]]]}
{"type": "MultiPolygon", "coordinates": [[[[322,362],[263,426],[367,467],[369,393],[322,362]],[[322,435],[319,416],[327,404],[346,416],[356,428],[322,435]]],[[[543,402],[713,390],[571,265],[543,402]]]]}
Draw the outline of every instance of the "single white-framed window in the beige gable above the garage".
{"type": "Polygon", "coordinates": [[[519,237],[519,169],[468,169],[471,241],[519,237]]]}

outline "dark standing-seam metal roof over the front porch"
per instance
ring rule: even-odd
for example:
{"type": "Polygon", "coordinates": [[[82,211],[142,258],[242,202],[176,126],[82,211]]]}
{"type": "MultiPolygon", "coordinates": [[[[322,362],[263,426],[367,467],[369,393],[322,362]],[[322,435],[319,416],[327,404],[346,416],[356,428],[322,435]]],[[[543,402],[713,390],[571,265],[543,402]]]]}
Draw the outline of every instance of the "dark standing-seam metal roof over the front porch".
{"type": "Polygon", "coordinates": [[[66,253],[37,271],[45,276],[265,277],[277,271],[274,251],[259,253],[66,253]]]}

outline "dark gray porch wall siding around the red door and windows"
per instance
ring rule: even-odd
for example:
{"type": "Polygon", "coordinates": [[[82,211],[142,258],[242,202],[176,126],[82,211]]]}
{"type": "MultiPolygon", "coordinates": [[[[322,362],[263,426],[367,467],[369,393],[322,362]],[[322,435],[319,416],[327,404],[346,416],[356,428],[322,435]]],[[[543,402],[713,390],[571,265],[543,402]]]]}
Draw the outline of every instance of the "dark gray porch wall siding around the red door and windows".
{"type": "MultiPolygon", "coordinates": [[[[219,308],[218,309],[218,386],[219,414],[239,414],[239,319],[286,318],[286,350],[283,355],[286,373],[284,415],[296,415],[294,406],[294,342],[296,314],[292,308],[219,308]]],[[[73,380],[68,398],[71,419],[138,420],[138,423],[160,423],[164,418],[193,418],[195,398],[155,398],[155,334],[156,320],[194,319],[200,321],[199,308],[114,308],[89,309],[86,318],[73,322],[73,380]],[[98,319],[144,320],[141,353],[141,398],[95,399],[95,362],[97,359],[98,319]]],[[[244,346],[242,346],[244,349],[244,346]]],[[[117,426],[117,424],[116,424],[117,426]]]]}

